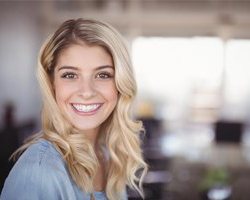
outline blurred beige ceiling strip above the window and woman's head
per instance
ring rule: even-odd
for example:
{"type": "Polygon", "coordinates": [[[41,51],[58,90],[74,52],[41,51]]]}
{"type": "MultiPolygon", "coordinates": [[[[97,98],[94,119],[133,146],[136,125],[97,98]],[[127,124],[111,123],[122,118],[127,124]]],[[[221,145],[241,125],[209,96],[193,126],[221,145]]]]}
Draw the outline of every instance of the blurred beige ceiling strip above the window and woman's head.
{"type": "Polygon", "coordinates": [[[250,0],[64,0],[45,1],[43,10],[48,27],[85,17],[109,22],[131,38],[250,38],[250,0]]]}

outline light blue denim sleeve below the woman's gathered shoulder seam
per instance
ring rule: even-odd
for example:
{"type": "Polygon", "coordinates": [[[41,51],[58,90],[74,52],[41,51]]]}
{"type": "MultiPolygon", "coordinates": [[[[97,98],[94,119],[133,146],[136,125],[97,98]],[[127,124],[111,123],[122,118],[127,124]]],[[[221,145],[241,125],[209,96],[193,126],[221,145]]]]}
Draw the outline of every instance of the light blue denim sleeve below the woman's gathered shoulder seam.
{"type": "MultiPolygon", "coordinates": [[[[46,155],[45,155],[46,156],[46,155]]],[[[76,199],[64,164],[55,156],[24,156],[7,177],[1,200],[76,199]]]]}

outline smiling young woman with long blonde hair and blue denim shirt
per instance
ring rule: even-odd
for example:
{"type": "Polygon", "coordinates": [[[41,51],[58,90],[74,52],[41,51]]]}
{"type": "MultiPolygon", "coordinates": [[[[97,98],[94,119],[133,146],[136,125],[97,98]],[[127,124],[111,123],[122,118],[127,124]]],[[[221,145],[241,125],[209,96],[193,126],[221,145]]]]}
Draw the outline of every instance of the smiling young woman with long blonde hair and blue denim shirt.
{"type": "Polygon", "coordinates": [[[42,47],[38,79],[42,131],[18,150],[1,199],[118,200],[126,186],[142,194],[142,124],[131,116],[136,83],[120,34],[64,22],[42,47]]]}

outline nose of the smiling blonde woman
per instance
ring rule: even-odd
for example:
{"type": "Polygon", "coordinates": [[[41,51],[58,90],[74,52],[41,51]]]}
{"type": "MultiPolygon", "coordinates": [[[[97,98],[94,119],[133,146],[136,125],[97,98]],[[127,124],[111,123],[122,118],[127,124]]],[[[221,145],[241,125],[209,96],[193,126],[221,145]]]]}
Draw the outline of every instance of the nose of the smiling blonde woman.
{"type": "Polygon", "coordinates": [[[91,79],[82,79],[79,83],[79,96],[90,99],[96,95],[95,86],[91,79]]]}

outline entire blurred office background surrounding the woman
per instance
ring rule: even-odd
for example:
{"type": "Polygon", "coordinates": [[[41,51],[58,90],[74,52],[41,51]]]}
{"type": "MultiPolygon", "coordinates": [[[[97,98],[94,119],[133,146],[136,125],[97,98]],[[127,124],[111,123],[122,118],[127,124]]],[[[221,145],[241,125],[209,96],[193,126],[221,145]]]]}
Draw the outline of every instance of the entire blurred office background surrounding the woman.
{"type": "Polygon", "coordinates": [[[1,0],[0,190],[8,157],[40,129],[40,46],[79,17],[112,24],[129,46],[145,199],[249,200],[249,0],[1,0]]]}

